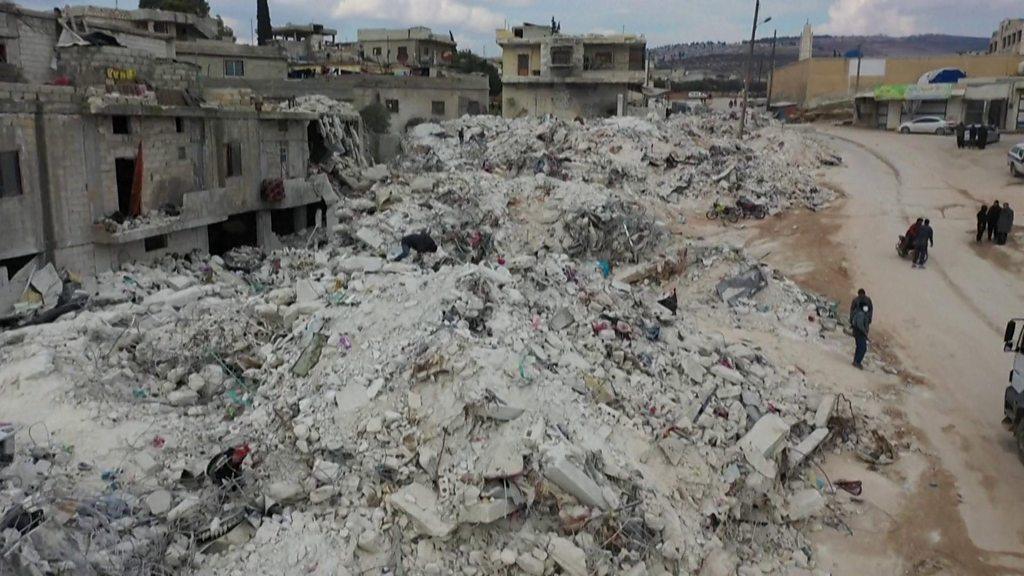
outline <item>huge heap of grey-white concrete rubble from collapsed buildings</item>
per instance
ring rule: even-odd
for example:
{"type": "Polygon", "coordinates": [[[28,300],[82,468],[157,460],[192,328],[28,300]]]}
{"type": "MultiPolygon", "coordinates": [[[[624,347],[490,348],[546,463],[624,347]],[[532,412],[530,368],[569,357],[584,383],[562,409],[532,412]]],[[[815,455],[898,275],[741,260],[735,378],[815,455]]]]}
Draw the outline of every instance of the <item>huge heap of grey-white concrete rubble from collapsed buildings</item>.
{"type": "MultiPolygon", "coordinates": [[[[717,194],[726,165],[776,209],[825,198],[758,153],[813,143],[723,126],[422,124],[414,156],[340,188],[318,248],[128,265],[84,310],[0,332],[0,390],[45,383],[108,430],[14,444],[0,513],[38,513],[0,527],[0,568],[784,573],[806,548],[795,521],[823,509],[804,459],[871,427],[829,436],[835,397],[735,336],[827,345],[808,318],[830,302],[761,268],[766,286],[725,305],[716,285],[753,260],[666,231],[658,190],[717,194]],[[391,261],[416,230],[438,252],[391,261]]],[[[31,417],[14,425],[29,438],[31,417]]]]}

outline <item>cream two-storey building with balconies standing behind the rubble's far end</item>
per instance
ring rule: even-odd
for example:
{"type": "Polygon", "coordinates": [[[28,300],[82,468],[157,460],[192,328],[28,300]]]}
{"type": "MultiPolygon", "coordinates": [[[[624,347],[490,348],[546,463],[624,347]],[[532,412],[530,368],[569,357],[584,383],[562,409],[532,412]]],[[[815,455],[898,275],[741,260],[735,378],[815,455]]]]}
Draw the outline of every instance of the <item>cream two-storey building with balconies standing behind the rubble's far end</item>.
{"type": "Polygon", "coordinates": [[[647,80],[642,36],[570,36],[552,26],[499,30],[502,114],[611,116],[647,80]]]}

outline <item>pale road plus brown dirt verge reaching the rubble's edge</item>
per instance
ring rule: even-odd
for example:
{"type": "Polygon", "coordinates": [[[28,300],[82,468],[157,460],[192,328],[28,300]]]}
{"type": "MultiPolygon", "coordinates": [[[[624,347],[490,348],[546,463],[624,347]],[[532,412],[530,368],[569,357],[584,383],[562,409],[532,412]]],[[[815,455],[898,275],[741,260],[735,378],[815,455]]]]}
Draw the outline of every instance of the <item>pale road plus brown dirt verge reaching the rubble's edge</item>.
{"type": "Polygon", "coordinates": [[[1024,253],[1015,240],[974,240],[982,202],[1024,213],[1024,180],[1005,160],[1017,138],[982,152],[958,151],[949,137],[818,130],[844,158],[823,177],[847,198],[822,213],[769,218],[751,248],[844,305],[867,290],[871,352],[900,366],[904,383],[887,390],[884,374],[836,378],[883,395],[914,438],[886,469],[826,463],[831,475],[864,481],[864,511],[850,522],[852,536],[815,536],[819,566],[836,575],[1024,574],[1024,465],[1000,425],[1012,360],[1001,334],[1024,314],[1024,253]],[[931,218],[936,236],[923,271],[894,250],[915,216],[931,218]]]}

